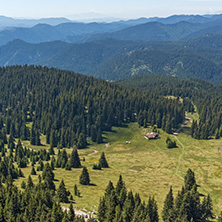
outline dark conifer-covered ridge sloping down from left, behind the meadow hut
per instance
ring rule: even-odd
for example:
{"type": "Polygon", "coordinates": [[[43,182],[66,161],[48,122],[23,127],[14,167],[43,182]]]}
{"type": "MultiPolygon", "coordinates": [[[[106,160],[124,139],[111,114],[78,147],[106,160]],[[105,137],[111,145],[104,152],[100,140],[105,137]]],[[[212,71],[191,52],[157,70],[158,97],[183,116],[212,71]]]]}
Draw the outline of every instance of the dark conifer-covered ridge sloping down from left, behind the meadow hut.
{"type": "Polygon", "coordinates": [[[0,80],[2,130],[34,145],[41,133],[53,147],[84,148],[87,137],[101,143],[103,130],[124,122],[157,124],[171,132],[184,120],[185,107],[176,100],[73,72],[12,66],[0,69],[0,80]],[[32,129],[27,122],[33,122],[32,129]]]}

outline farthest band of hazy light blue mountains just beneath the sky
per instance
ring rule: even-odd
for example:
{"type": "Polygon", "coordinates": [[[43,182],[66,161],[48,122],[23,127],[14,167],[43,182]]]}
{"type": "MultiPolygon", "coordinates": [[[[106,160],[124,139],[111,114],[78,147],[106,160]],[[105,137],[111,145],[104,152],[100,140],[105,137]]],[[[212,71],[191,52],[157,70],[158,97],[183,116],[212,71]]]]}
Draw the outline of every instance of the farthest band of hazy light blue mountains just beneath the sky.
{"type": "Polygon", "coordinates": [[[5,45],[15,39],[28,43],[55,40],[89,42],[104,38],[175,41],[198,37],[206,33],[222,34],[222,15],[174,15],[167,18],[139,18],[111,23],[80,23],[71,22],[65,18],[15,20],[0,17],[0,26],[7,25],[8,28],[0,31],[0,45],[5,45]],[[19,24],[21,27],[17,27],[19,24]],[[31,24],[35,25],[27,28],[31,24]]]}

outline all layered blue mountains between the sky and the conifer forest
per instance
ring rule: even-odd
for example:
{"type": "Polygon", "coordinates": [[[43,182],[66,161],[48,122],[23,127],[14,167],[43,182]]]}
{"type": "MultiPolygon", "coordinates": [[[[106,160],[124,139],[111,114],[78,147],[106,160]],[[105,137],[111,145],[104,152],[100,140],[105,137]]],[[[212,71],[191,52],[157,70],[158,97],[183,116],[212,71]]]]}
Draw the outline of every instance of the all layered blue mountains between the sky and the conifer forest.
{"type": "Polygon", "coordinates": [[[73,70],[109,81],[162,74],[222,83],[222,15],[4,29],[0,65],[24,64],[73,70]]]}

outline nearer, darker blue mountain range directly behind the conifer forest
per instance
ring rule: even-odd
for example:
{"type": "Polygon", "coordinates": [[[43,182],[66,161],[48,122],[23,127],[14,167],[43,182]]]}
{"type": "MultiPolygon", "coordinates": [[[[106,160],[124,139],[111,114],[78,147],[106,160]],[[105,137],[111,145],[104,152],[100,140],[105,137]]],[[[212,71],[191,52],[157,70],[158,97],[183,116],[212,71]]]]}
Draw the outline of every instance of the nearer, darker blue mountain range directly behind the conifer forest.
{"type": "Polygon", "coordinates": [[[14,40],[0,47],[0,65],[36,64],[116,81],[162,74],[222,82],[222,35],[176,42],[104,39],[81,44],[14,40]]]}

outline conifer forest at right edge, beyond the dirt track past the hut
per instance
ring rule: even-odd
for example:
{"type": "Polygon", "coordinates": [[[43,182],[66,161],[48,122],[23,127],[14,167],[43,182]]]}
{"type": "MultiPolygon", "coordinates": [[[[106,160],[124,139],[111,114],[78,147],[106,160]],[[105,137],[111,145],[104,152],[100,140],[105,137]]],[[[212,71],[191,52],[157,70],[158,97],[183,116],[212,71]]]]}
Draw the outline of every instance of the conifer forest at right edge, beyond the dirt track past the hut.
{"type": "Polygon", "coordinates": [[[191,135],[195,139],[216,139],[222,136],[222,86],[203,80],[179,79],[170,76],[139,76],[120,81],[137,89],[143,89],[159,96],[183,98],[185,109],[194,112],[199,119],[193,121],[191,135]]]}

